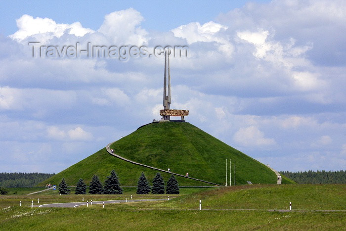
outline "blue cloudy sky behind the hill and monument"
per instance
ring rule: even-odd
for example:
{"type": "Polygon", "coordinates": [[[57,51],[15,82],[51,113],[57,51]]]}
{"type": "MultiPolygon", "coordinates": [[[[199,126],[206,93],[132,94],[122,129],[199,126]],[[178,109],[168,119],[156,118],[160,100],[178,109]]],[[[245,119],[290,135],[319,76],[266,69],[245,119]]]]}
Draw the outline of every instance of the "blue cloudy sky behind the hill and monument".
{"type": "Polygon", "coordinates": [[[187,50],[170,57],[187,122],[278,171],[346,170],[345,0],[4,1],[0,14],[0,172],[58,173],[160,119],[165,46],[187,50]]]}

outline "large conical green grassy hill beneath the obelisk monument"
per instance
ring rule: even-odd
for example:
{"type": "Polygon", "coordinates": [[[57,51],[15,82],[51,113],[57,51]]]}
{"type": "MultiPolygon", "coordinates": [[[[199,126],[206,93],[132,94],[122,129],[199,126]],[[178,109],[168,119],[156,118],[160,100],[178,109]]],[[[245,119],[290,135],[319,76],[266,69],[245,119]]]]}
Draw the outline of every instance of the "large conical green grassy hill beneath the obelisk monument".
{"type": "MultiPolygon", "coordinates": [[[[234,159],[237,185],[247,184],[247,181],[253,184],[276,184],[276,175],[265,165],[189,123],[151,123],[119,139],[111,147],[115,153],[132,161],[164,170],[170,168],[172,172],[182,175],[189,173],[190,177],[219,185],[225,184],[226,158],[229,184],[231,158],[232,184],[234,159]]],[[[80,178],[88,183],[93,174],[104,181],[112,169],[117,172],[122,185],[137,185],[141,172],[151,182],[157,172],[115,158],[103,148],[40,185],[58,184],[62,178],[65,178],[68,185],[76,185],[80,178]]],[[[170,174],[161,174],[165,182],[170,177],[170,174]]],[[[182,177],[177,177],[177,181],[179,185],[207,185],[182,177]]],[[[283,183],[293,182],[284,178],[283,183]]]]}

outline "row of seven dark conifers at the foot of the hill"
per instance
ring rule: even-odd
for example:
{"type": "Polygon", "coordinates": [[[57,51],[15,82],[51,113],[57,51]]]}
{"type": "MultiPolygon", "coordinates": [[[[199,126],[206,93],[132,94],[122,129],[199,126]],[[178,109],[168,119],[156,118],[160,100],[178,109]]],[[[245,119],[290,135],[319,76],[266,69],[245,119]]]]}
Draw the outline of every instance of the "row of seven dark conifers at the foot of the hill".
{"type": "MultiPolygon", "coordinates": [[[[144,173],[138,179],[137,194],[148,194],[150,191],[153,194],[164,194],[165,193],[165,182],[160,173],[156,173],[153,179],[153,186],[151,187],[144,173]]],[[[68,188],[65,179],[63,178],[59,184],[60,194],[69,194],[70,189],[68,188]]],[[[75,194],[86,194],[87,185],[83,179],[80,179],[76,185],[75,194]]],[[[123,194],[123,188],[120,186],[118,176],[114,170],[107,177],[104,186],[102,185],[98,176],[94,175],[89,185],[90,194],[123,194]]],[[[179,194],[179,185],[173,174],[167,182],[166,186],[167,194],[179,194]]]]}

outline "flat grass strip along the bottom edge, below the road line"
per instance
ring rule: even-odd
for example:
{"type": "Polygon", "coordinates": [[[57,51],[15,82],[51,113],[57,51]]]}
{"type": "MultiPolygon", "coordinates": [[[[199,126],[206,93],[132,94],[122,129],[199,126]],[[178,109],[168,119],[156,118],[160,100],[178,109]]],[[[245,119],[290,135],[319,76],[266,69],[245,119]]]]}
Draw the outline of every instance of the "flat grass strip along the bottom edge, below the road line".
{"type": "MultiPolygon", "coordinates": [[[[91,206],[90,206],[91,207],[91,206]]],[[[343,212],[10,208],[1,230],[344,230],[343,212]]]]}

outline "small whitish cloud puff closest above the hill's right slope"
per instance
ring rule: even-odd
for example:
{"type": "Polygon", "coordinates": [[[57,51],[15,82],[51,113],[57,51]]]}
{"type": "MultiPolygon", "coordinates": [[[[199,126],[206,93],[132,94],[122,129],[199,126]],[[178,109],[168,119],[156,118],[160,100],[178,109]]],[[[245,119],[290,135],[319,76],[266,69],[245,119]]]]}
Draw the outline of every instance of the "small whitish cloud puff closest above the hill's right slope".
{"type": "Polygon", "coordinates": [[[264,133],[255,126],[240,128],[234,134],[233,139],[243,146],[269,146],[275,144],[274,139],[264,138],[264,133]]]}

